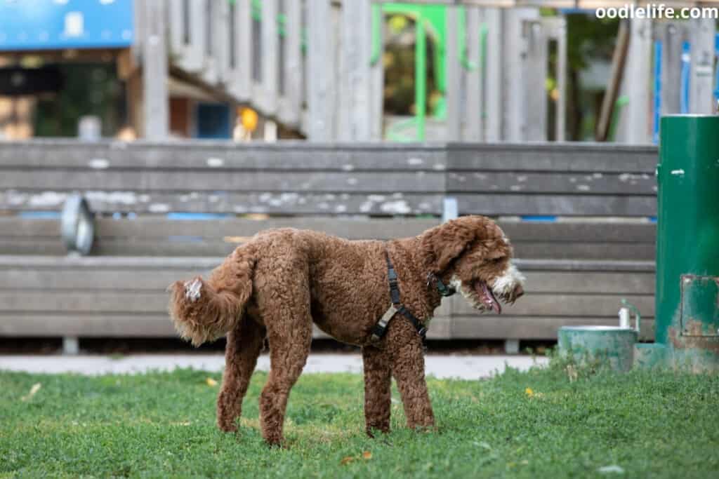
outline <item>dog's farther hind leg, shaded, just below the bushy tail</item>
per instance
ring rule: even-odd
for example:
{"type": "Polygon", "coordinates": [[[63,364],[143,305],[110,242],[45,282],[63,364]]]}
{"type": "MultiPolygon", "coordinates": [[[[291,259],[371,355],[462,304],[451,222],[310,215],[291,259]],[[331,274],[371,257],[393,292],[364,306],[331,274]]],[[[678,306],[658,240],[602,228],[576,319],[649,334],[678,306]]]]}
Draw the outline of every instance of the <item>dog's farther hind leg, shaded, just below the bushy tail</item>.
{"type": "Polygon", "coordinates": [[[217,396],[217,426],[224,432],[237,431],[235,421],[242,414],[242,399],[264,341],[265,327],[247,315],[240,325],[227,333],[225,370],[217,396]]]}

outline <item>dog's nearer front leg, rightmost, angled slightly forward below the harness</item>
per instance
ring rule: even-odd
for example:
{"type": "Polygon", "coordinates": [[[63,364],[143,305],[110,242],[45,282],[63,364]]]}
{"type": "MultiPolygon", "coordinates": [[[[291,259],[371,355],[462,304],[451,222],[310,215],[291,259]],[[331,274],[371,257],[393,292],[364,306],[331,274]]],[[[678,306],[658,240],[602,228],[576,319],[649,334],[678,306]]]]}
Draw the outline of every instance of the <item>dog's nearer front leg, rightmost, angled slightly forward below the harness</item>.
{"type": "Polygon", "coordinates": [[[387,348],[392,375],[402,396],[407,426],[434,426],[434,412],[424,379],[422,341],[414,327],[401,317],[395,317],[388,330],[387,348]]]}

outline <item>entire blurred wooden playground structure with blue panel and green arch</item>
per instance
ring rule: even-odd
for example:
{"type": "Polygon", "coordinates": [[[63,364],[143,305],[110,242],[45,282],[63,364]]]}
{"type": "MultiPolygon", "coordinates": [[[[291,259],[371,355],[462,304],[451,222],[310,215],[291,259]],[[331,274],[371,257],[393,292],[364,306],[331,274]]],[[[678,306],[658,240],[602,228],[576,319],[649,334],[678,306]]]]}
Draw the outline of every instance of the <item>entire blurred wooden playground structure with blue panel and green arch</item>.
{"type": "MultiPolygon", "coordinates": [[[[191,92],[226,107],[183,106],[183,111],[198,110],[198,119],[180,128],[189,136],[229,137],[234,108],[228,106],[249,106],[267,120],[260,126],[280,124],[311,141],[563,141],[565,14],[625,2],[117,0],[112,4],[122,15],[116,22],[124,22],[117,33],[113,28],[93,33],[94,24],[112,18],[99,14],[104,6],[94,1],[81,9],[45,3],[58,12],[54,24],[70,33],[84,30],[75,37],[64,31],[53,36],[53,28],[62,28],[38,26],[32,16],[13,14],[22,4],[6,4],[4,17],[13,21],[0,27],[14,26],[0,37],[3,55],[20,57],[32,50],[53,57],[68,48],[78,57],[109,52],[127,83],[129,121],[148,139],[168,137],[170,118],[178,116],[168,99],[191,92]],[[557,10],[548,17],[540,6],[557,10]],[[134,17],[129,25],[127,12],[134,17]],[[385,16],[405,16],[414,24],[412,117],[383,112],[385,16]],[[50,32],[49,40],[25,38],[32,29],[23,22],[50,32]],[[439,106],[431,107],[426,104],[429,51],[441,94],[439,106]],[[554,78],[552,85],[547,78],[554,78]],[[224,115],[224,127],[198,133],[203,113],[224,115]]],[[[632,19],[620,28],[617,50],[600,139],[656,142],[660,115],[712,111],[719,89],[712,19],[632,19]]]]}

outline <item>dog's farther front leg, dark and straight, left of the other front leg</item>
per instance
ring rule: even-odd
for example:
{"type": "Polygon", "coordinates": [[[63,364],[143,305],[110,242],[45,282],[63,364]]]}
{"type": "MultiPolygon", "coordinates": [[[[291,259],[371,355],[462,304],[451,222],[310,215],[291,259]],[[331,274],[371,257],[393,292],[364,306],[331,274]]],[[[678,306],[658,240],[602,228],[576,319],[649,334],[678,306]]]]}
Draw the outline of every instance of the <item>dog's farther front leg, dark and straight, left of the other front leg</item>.
{"type": "Polygon", "coordinates": [[[390,358],[385,351],[373,346],[362,348],[365,367],[365,424],[367,435],[374,437],[374,430],[390,431],[390,406],[392,402],[392,375],[390,358]]]}

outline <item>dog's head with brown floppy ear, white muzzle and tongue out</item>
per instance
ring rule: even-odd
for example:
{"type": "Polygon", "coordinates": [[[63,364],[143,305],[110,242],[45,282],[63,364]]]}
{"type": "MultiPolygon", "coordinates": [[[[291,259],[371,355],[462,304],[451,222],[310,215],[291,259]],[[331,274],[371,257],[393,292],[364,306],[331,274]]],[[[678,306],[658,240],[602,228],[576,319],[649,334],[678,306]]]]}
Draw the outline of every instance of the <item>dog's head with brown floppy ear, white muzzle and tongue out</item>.
{"type": "Polygon", "coordinates": [[[430,272],[448,281],[475,309],[502,312],[524,294],[524,276],[512,264],[512,246],[493,220],[462,216],[423,233],[430,272]]]}

